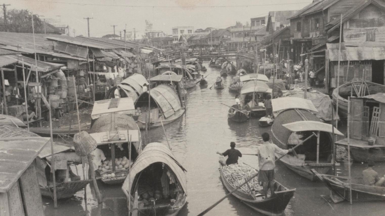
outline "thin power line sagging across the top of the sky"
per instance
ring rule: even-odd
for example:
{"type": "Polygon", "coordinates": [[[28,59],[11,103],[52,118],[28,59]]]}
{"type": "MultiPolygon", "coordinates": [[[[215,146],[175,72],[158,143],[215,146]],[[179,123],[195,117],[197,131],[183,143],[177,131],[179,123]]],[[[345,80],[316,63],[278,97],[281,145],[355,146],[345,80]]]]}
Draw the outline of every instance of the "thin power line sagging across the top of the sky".
{"type": "MultiPolygon", "coordinates": [[[[27,1],[27,0],[22,0],[27,1]]],[[[43,0],[28,0],[28,2],[45,2],[45,3],[57,3],[68,5],[90,5],[90,6],[112,6],[112,7],[134,7],[134,8],[226,8],[226,7],[256,7],[256,6],[273,6],[273,5],[298,5],[308,4],[309,2],[297,2],[297,3],[277,3],[277,4],[259,4],[259,5],[219,5],[219,6],[147,6],[147,5],[109,5],[109,4],[90,4],[90,3],[70,3],[70,2],[53,2],[43,0]]]]}

